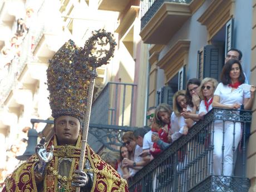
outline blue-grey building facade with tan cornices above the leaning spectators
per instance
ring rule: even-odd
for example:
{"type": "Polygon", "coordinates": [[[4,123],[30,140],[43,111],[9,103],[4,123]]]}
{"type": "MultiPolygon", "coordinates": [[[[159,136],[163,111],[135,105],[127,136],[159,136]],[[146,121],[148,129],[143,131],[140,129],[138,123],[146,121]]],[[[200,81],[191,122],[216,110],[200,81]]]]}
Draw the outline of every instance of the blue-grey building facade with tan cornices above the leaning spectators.
{"type": "MultiPolygon", "coordinates": [[[[219,80],[230,48],[243,52],[243,70],[255,85],[255,18],[255,1],[141,1],[140,36],[149,45],[149,105],[172,105],[173,94],[185,89],[190,78],[219,80]]],[[[256,189],[255,106],[246,160],[249,191],[256,189]]]]}

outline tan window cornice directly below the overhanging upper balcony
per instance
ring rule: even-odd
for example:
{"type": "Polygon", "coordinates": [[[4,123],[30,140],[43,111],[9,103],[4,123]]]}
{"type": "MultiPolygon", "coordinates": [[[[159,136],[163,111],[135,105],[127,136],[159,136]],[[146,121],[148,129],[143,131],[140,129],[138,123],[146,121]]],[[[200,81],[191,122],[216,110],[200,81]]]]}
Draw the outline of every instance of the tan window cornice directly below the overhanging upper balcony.
{"type": "Polygon", "coordinates": [[[190,41],[179,40],[170,48],[161,60],[156,64],[165,72],[166,82],[179,71],[180,67],[187,65],[190,41]]]}

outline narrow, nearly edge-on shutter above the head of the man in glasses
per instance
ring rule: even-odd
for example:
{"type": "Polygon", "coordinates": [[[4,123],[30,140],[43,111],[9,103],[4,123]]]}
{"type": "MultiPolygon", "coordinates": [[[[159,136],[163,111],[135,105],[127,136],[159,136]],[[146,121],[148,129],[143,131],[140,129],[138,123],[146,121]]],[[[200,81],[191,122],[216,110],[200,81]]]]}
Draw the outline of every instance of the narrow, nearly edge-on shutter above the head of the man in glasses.
{"type": "Polygon", "coordinates": [[[226,23],[225,55],[234,46],[234,18],[226,23]]]}

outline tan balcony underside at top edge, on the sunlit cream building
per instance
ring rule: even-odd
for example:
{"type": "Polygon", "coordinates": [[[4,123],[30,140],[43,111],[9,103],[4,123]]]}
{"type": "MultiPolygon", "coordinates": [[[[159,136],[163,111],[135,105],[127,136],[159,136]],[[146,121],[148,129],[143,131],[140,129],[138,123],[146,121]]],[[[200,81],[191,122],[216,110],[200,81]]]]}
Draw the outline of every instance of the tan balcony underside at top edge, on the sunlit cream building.
{"type": "Polygon", "coordinates": [[[100,10],[122,12],[129,2],[130,0],[100,0],[98,4],[100,10]]]}

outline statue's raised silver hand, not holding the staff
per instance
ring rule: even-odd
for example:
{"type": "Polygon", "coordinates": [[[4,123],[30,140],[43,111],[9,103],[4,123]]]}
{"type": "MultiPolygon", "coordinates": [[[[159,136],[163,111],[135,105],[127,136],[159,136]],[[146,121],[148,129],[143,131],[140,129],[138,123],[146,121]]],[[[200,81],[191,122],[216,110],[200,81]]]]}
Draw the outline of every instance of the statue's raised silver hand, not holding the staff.
{"type": "Polygon", "coordinates": [[[40,159],[40,163],[44,161],[45,163],[49,163],[53,157],[53,149],[54,146],[51,146],[50,151],[48,152],[45,148],[45,137],[43,137],[39,144],[36,145],[36,155],[40,159]]]}

